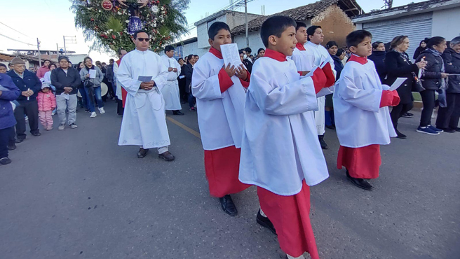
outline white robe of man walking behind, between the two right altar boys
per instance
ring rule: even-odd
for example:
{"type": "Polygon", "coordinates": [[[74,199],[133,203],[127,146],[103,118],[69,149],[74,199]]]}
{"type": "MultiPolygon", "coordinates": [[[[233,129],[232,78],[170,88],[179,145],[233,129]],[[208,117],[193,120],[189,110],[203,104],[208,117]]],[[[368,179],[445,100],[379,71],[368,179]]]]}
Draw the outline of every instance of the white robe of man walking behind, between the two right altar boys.
{"type": "MultiPolygon", "coordinates": [[[[311,63],[311,67],[308,67],[308,64],[306,64],[306,71],[310,71],[313,66],[320,66],[321,61],[325,60],[330,63],[332,72],[334,73],[334,76],[336,74],[335,69],[334,69],[334,60],[330,57],[329,52],[327,52],[326,48],[324,48],[322,45],[316,45],[315,43],[311,43],[311,41],[307,41],[304,45],[305,51],[299,51],[302,52],[302,54],[307,56],[307,60],[311,63]]],[[[297,64],[297,63],[296,63],[297,64]]],[[[302,67],[302,69],[304,69],[302,67]]],[[[302,70],[305,71],[305,70],[302,70]]],[[[326,88],[325,90],[322,90],[323,92],[319,92],[318,96],[318,111],[315,112],[315,120],[316,120],[316,130],[318,130],[318,135],[323,135],[325,133],[325,102],[326,102],[326,97],[325,95],[331,94],[334,89],[333,87],[326,88]],[[327,92],[324,92],[327,91],[327,92]]]]}

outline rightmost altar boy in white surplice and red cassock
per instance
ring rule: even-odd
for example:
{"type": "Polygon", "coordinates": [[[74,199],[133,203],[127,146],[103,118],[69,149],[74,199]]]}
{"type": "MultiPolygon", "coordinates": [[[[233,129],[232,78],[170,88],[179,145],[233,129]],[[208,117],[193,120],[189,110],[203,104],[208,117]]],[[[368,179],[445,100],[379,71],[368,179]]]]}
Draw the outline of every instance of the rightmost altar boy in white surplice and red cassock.
{"type": "Polygon", "coordinates": [[[365,179],[379,177],[380,145],[396,137],[388,106],[399,104],[398,92],[381,85],[372,54],[372,34],[353,31],[346,36],[351,57],[341,71],[333,96],[337,136],[340,141],[337,168],[359,188],[372,190],[365,179]]]}

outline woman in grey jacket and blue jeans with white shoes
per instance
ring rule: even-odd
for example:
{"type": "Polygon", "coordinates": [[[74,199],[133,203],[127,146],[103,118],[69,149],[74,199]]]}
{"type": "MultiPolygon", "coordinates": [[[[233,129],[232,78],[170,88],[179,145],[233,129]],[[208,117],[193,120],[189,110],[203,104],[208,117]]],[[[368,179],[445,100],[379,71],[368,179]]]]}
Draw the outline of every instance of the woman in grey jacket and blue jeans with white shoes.
{"type": "MultiPolygon", "coordinates": [[[[104,80],[104,75],[98,66],[93,65],[93,59],[90,57],[85,57],[83,59],[83,69],[80,70],[81,80],[88,96],[88,107],[90,109],[91,118],[96,117],[95,111],[95,101],[97,102],[97,109],[101,114],[104,114],[104,103],[102,102],[100,84],[104,80]],[[95,78],[90,78],[90,70],[94,69],[96,71],[95,78]],[[86,81],[86,82],[85,82],[86,81]]],[[[100,65],[99,65],[100,66],[100,65]]]]}

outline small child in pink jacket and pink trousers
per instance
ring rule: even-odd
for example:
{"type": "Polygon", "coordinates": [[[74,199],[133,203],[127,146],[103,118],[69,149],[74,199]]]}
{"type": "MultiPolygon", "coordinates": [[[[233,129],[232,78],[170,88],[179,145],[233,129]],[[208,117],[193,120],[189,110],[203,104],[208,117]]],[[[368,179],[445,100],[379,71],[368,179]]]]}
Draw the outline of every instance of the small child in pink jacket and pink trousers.
{"type": "Polygon", "coordinates": [[[50,85],[43,83],[36,97],[39,103],[40,123],[46,130],[53,130],[53,110],[56,108],[56,97],[51,91],[50,85]]]}

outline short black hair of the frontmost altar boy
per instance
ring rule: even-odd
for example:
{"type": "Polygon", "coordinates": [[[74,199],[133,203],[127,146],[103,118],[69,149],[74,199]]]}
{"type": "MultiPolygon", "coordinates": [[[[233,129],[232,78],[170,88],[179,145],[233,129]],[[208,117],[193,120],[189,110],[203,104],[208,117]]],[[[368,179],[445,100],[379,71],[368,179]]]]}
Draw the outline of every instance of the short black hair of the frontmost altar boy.
{"type": "Polygon", "coordinates": [[[262,43],[264,43],[265,47],[268,47],[269,37],[271,35],[280,38],[283,31],[291,26],[296,27],[297,23],[288,16],[276,15],[268,18],[262,23],[262,27],[260,27],[260,38],[262,38],[262,43]]]}

